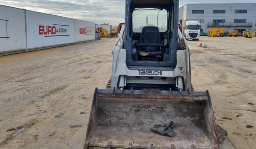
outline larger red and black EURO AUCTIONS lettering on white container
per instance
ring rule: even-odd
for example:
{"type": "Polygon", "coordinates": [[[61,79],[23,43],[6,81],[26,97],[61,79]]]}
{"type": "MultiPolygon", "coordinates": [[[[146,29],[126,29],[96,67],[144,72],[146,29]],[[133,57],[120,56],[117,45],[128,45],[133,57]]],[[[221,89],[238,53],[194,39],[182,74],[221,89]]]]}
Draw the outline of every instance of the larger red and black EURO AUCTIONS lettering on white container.
{"type": "Polygon", "coordinates": [[[69,25],[53,24],[53,26],[39,25],[39,35],[45,37],[69,36],[69,25]]]}

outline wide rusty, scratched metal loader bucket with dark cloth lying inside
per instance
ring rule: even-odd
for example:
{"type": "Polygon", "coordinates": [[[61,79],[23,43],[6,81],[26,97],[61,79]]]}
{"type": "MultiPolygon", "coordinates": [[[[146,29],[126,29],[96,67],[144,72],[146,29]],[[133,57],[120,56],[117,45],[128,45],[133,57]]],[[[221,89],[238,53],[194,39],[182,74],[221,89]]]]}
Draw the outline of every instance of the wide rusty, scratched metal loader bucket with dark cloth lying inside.
{"type": "Polygon", "coordinates": [[[218,149],[208,91],[95,90],[85,149],[218,149]],[[174,122],[177,134],[154,133],[174,122]]]}

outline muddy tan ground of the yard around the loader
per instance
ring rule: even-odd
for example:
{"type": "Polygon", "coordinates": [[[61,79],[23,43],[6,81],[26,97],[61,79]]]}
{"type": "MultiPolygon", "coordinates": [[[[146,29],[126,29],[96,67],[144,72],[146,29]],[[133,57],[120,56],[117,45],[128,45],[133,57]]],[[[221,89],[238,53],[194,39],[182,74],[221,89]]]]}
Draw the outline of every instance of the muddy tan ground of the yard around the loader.
{"type": "MultiPolygon", "coordinates": [[[[0,57],[0,148],[82,148],[94,89],[111,76],[115,42],[0,57]]],[[[209,90],[216,122],[236,149],[254,149],[256,38],[201,37],[189,47],[194,89],[209,90]]]]}

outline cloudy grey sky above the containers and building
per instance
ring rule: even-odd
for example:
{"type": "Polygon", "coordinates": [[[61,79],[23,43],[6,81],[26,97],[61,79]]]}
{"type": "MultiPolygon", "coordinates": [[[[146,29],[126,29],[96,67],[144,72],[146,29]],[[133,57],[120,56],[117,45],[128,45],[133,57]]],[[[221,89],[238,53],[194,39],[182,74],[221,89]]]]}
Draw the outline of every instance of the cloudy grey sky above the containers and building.
{"type": "MultiPolygon", "coordinates": [[[[124,22],[125,0],[0,0],[0,4],[91,22],[118,25],[124,22]]],[[[256,0],[180,0],[191,3],[256,3],[256,0]]]]}

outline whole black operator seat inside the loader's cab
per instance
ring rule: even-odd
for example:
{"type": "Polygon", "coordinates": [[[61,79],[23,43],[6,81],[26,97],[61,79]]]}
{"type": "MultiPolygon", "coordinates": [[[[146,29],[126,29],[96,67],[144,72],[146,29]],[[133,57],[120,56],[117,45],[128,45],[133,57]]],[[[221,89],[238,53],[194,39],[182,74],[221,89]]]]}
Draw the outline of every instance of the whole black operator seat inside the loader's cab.
{"type": "Polygon", "coordinates": [[[160,59],[163,54],[161,50],[163,47],[165,47],[165,45],[161,44],[161,37],[158,27],[142,28],[140,41],[136,45],[136,48],[139,48],[141,59],[160,59]]]}

